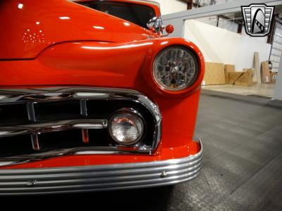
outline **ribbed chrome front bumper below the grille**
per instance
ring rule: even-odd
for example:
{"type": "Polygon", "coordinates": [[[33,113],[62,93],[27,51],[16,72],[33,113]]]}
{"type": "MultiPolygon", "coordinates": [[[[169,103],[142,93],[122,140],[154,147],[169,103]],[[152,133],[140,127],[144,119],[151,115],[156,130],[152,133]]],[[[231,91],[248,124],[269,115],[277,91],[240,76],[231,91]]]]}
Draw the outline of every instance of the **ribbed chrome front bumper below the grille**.
{"type": "Polygon", "coordinates": [[[0,170],[1,195],[113,191],[165,186],[200,174],[201,150],[186,158],[85,167],[0,170]]]}

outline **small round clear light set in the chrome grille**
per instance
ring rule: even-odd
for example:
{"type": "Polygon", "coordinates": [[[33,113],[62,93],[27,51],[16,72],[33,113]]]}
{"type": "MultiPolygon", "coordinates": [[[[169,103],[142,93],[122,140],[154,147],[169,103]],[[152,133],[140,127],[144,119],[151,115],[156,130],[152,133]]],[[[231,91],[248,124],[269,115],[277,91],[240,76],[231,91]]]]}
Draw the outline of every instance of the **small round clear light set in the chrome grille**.
{"type": "Polygon", "coordinates": [[[134,110],[121,110],[109,120],[109,133],[114,141],[132,145],[140,141],[144,133],[142,117],[134,110]]]}

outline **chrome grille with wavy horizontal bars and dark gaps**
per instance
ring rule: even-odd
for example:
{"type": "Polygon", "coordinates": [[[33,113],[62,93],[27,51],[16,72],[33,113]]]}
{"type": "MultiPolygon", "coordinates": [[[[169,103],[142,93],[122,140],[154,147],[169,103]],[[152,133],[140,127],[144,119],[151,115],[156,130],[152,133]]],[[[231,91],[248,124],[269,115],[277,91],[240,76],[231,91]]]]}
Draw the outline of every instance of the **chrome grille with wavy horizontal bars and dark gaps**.
{"type": "Polygon", "coordinates": [[[157,105],[128,89],[0,89],[0,120],[0,165],[70,154],[153,153],[161,135],[157,105]],[[121,108],[145,117],[145,136],[135,146],[120,146],[107,132],[110,115],[121,108]]]}

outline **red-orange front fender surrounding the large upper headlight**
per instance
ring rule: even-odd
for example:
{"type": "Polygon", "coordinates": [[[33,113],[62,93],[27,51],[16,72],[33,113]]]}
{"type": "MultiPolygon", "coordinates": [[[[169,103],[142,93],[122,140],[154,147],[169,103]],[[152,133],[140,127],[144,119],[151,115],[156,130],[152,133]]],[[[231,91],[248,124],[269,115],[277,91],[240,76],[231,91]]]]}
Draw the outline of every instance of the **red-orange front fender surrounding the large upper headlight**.
{"type": "Polygon", "coordinates": [[[1,61],[0,69],[1,87],[71,85],[135,89],[157,103],[163,115],[158,152],[161,148],[186,148],[192,142],[204,58],[197,46],[188,40],[160,38],[123,44],[66,42],[49,47],[35,60],[1,61]],[[185,91],[175,93],[159,89],[152,79],[154,57],[171,45],[191,49],[200,65],[195,83],[185,91]]]}

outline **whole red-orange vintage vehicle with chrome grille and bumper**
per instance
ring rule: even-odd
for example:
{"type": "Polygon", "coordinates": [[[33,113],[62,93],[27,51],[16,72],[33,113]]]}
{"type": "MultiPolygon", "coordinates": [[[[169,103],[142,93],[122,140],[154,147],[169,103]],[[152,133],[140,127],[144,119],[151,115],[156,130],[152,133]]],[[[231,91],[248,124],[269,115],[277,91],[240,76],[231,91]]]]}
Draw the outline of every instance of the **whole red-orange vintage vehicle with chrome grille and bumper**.
{"type": "Polygon", "coordinates": [[[204,58],[159,4],[9,0],[0,17],[0,195],[197,177],[204,58]]]}

